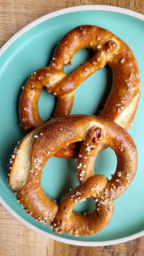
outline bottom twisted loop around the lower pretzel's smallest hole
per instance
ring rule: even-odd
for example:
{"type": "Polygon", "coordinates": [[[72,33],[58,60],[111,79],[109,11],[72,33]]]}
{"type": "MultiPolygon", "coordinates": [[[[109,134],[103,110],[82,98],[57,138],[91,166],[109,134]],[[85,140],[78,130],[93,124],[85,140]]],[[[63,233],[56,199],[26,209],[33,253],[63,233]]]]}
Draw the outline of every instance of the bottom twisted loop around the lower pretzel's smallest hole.
{"type": "Polygon", "coordinates": [[[113,214],[113,201],[101,204],[100,206],[98,206],[99,203],[96,203],[96,209],[91,213],[84,213],[84,215],[72,212],[77,203],[85,201],[90,196],[95,196],[96,193],[99,193],[100,189],[103,189],[105,184],[107,184],[107,178],[105,176],[93,175],[88,180],[82,182],[81,185],[74,188],[60,205],[59,211],[54,219],[53,231],[58,234],[62,234],[65,231],[69,234],[80,235],[85,232],[85,235],[92,235],[100,230],[101,225],[103,227],[106,226],[113,214]],[[75,222],[75,227],[72,225],[72,219],[75,222]],[[80,226],[78,227],[78,225],[80,226]]]}

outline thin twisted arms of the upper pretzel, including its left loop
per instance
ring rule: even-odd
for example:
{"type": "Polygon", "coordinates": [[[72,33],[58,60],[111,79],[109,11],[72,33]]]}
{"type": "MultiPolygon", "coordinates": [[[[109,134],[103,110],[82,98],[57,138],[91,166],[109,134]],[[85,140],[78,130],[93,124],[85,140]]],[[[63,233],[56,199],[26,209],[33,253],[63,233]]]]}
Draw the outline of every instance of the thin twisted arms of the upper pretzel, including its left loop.
{"type": "Polygon", "coordinates": [[[74,90],[95,71],[105,66],[116,49],[117,46],[113,40],[106,42],[102,48],[103,54],[96,53],[68,76],[57,68],[53,68],[52,64],[51,67],[44,67],[32,73],[24,86],[19,102],[19,114],[23,129],[29,132],[44,124],[38,111],[38,100],[44,86],[48,93],[58,97],[53,117],[69,115],[73,107],[74,90]],[[107,50],[109,50],[109,54],[107,54],[107,50]],[[83,70],[85,72],[79,79],[83,70]]]}

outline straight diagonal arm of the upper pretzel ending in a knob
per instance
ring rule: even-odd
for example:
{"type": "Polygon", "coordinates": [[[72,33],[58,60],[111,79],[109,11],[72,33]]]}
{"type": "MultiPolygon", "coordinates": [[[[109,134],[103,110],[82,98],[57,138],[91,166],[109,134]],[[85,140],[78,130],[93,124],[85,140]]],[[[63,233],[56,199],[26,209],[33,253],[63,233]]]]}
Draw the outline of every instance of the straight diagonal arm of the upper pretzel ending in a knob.
{"type": "MultiPolygon", "coordinates": [[[[115,41],[107,41],[102,47],[101,51],[98,51],[90,60],[83,63],[70,75],[55,83],[53,85],[54,89],[50,93],[53,94],[54,92],[55,96],[62,96],[75,90],[94,72],[104,67],[109,62],[113,54],[116,52],[117,48],[117,43],[115,41]]],[[[72,59],[72,57],[73,55],[71,54],[70,60],[72,59]]],[[[52,61],[52,64],[54,64],[54,61],[52,61]]],[[[46,90],[49,92],[48,88],[46,88],[46,90]]]]}

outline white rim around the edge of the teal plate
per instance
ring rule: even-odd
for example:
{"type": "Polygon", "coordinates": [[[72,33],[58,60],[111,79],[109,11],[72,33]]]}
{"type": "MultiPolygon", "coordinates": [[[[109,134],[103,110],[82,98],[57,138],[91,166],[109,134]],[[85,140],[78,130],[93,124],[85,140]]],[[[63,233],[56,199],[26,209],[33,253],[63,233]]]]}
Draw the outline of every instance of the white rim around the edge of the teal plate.
{"type": "MultiPolygon", "coordinates": [[[[6,51],[6,49],[18,38],[20,37],[22,34],[24,34],[26,31],[28,31],[29,29],[31,29],[32,27],[38,25],[39,23],[51,19],[53,17],[59,16],[61,14],[65,14],[65,13],[70,13],[70,12],[76,12],[76,11],[85,11],[85,10],[101,10],[101,11],[112,11],[112,12],[118,12],[118,13],[122,13],[122,14],[126,14],[132,17],[135,17],[137,19],[143,20],[144,21],[144,15],[138,13],[138,12],[134,12],[125,8],[121,8],[121,7],[116,7],[116,6],[108,6],[108,5],[80,5],[80,6],[73,6],[73,7],[68,7],[68,8],[64,8],[61,10],[57,10],[54,12],[51,12],[49,14],[46,14],[34,21],[32,21],[31,23],[29,23],[28,25],[26,25],[25,27],[23,27],[21,30],[19,30],[16,34],[14,34],[1,48],[0,48],[0,56],[6,51]]],[[[21,223],[23,223],[24,225],[26,225],[28,228],[50,238],[53,240],[56,240],[58,242],[62,242],[62,243],[67,243],[67,244],[72,244],[72,245],[79,245],[79,246],[105,246],[105,245],[112,245],[112,244],[118,244],[118,243],[123,243],[123,242],[127,242],[130,241],[132,239],[138,238],[142,235],[144,235],[144,230],[137,232],[133,235],[130,236],[126,236],[126,237],[122,237],[119,239],[114,239],[114,240],[107,240],[107,241],[79,241],[79,240],[71,240],[71,239],[67,239],[67,238],[63,238],[63,237],[59,237],[59,236],[55,236],[53,234],[47,233],[44,230],[41,230],[40,228],[35,227],[34,225],[30,224],[29,222],[27,222],[25,219],[23,219],[22,217],[20,217],[0,196],[0,203],[5,207],[5,209],[10,212],[17,220],[19,220],[21,223]]]]}

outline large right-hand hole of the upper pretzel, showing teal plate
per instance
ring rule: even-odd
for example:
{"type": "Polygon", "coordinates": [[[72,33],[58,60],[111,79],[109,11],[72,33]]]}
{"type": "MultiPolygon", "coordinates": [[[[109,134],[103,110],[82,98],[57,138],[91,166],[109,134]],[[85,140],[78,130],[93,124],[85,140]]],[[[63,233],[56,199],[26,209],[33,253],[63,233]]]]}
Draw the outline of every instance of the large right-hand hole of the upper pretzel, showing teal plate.
{"type": "Polygon", "coordinates": [[[106,65],[76,88],[71,114],[99,115],[104,108],[111,85],[111,69],[106,65]]]}

